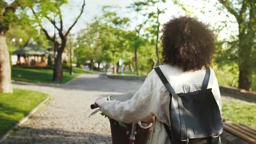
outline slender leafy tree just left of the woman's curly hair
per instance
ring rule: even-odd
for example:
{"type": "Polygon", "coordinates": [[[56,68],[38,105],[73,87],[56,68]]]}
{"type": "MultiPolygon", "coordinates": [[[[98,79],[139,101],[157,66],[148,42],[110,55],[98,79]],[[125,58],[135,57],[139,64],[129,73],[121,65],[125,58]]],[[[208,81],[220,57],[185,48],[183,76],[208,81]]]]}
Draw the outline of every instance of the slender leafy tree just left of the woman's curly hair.
{"type": "Polygon", "coordinates": [[[131,4],[130,7],[133,7],[135,11],[144,11],[144,16],[148,16],[148,22],[153,23],[152,25],[152,31],[153,38],[155,39],[155,49],[156,49],[156,55],[158,57],[158,65],[160,65],[160,58],[159,58],[159,48],[158,48],[158,39],[159,39],[159,33],[160,33],[160,22],[159,22],[159,15],[164,13],[166,9],[159,9],[157,6],[159,3],[165,3],[166,0],[138,0],[135,3],[131,4]],[[149,12],[149,8],[155,9],[155,11],[149,12]]]}

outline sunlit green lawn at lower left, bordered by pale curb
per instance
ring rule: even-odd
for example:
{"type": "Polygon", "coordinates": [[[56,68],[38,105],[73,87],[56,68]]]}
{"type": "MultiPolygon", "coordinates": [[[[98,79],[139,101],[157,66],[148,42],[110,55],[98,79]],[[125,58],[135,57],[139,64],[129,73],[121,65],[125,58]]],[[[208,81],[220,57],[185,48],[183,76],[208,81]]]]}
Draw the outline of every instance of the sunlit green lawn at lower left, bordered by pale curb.
{"type": "Polygon", "coordinates": [[[0,136],[24,118],[46,97],[46,94],[40,92],[21,89],[13,89],[12,94],[0,93],[0,136]]]}

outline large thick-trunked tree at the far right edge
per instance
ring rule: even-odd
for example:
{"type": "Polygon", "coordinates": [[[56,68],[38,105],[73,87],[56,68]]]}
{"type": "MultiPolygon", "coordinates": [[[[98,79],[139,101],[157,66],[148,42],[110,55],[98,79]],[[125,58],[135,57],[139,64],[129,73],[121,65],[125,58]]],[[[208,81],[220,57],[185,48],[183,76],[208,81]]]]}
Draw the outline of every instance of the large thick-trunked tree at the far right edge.
{"type": "Polygon", "coordinates": [[[256,47],[256,3],[253,0],[219,0],[238,23],[237,60],[239,65],[239,88],[250,90],[251,77],[255,72],[256,47]]]}

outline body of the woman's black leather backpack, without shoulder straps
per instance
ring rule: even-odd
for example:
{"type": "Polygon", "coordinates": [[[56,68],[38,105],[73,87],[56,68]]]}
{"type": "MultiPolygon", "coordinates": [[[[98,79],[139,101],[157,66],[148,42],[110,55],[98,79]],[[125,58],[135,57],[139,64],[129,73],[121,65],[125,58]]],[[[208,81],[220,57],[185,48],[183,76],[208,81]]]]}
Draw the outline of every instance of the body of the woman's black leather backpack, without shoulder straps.
{"type": "Polygon", "coordinates": [[[216,137],[223,131],[217,102],[211,89],[171,95],[171,129],[179,141],[216,137]]]}

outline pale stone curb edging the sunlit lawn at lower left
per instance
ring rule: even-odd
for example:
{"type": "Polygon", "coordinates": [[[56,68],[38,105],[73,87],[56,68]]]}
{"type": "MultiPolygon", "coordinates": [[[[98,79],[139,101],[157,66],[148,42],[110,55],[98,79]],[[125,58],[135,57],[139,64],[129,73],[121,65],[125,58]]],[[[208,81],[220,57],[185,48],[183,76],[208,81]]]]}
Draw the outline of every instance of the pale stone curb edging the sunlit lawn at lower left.
{"type": "Polygon", "coordinates": [[[19,125],[21,125],[21,124],[23,124],[25,121],[27,121],[27,120],[31,117],[31,115],[33,115],[33,114],[38,110],[38,108],[39,108],[40,106],[42,106],[43,104],[46,103],[46,101],[49,100],[49,98],[50,98],[50,97],[47,96],[47,98],[46,98],[44,101],[42,101],[39,105],[37,105],[36,108],[34,108],[32,111],[30,111],[30,113],[28,113],[28,115],[26,115],[25,118],[23,118],[23,119],[21,119],[20,121],[18,121],[12,128],[10,128],[9,131],[6,132],[6,134],[4,134],[2,137],[0,137],[0,144],[6,139],[6,137],[7,137],[11,132],[13,132],[13,128],[18,128],[19,125]]]}

